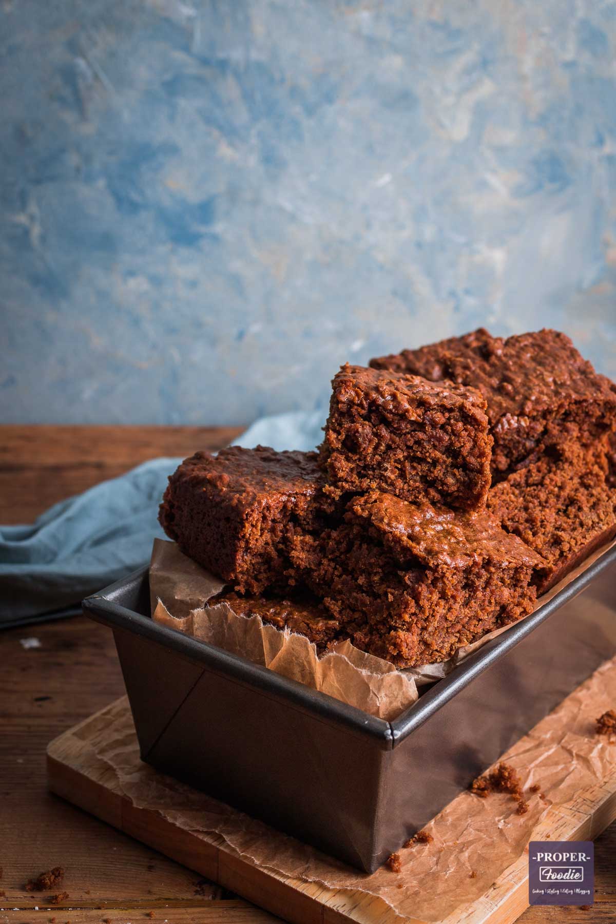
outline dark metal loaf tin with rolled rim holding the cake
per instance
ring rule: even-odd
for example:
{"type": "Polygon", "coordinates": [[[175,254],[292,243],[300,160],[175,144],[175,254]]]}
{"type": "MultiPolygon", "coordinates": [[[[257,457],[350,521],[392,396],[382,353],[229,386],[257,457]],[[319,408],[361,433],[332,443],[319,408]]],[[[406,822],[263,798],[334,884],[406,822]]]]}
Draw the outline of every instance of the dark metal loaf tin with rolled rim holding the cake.
{"type": "Polygon", "coordinates": [[[143,760],[371,872],[616,653],[616,548],[394,722],[151,620],[148,569],[88,597],[143,760]]]}

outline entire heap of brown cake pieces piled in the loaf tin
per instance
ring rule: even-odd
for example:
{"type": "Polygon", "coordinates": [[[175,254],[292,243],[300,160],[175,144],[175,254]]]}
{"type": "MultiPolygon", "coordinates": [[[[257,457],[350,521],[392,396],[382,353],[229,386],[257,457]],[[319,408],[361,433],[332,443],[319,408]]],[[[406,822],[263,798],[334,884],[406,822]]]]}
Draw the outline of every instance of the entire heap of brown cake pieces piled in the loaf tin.
{"type": "Polygon", "coordinates": [[[551,331],[477,331],[371,366],[334,377],[319,454],[198,453],[160,519],[237,613],[320,649],[442,661],[616,533],[616,392],[551,331]]]}

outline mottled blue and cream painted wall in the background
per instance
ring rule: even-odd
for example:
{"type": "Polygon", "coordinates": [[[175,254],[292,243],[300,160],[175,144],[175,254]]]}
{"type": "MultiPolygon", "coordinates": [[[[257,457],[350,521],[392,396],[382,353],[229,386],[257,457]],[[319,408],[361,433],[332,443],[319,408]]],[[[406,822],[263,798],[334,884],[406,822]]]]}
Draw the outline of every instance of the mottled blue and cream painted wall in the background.
{"type": "Polygon", "coordinates": [[[243,423],[560,327],[616,376],[616,4],[3,0],[5,421],[243,423]]]}

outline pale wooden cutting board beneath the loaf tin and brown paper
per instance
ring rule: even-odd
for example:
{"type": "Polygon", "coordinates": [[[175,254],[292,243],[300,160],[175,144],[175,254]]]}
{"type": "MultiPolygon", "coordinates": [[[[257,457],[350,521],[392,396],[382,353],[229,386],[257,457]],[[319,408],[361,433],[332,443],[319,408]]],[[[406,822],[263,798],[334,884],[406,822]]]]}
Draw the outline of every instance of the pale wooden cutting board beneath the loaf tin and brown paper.
{"type": "MultiPolygon", "coordinates": [[[[616,660],[610,668],[616,671],[616,660]]],[[[127,699],[117,700],[55,738],[47,750],[50,789],[119,830],[171,857],[224,888],[294,924],[400,924],[402,918],[379,898],[364,892],[332,890],[290,879],[240,857],[216,835],[194,833],[156,810],[137,808],[124,794],[115,770],[100,758],[106,719],[127,718],[127,699]],[[103,728],[103,731],[102,731],[103,728]]],[[[138,761],[139,762],[139,761],[138,761]]],[[[165,806],[174,809],[173,805],[165,806]]],[[[533,833],[534,840],[594,839],[616,818],[616,766],[600,783],[578,790],[566,804],[552,806],[533,833]]],[[[435,875],[426,890],[438,894],[435,875]]],[[[459,907],[442,924],[508,924],[528,906],[527,851],[472,905],[459,907]]],[[[406,918],[418,924],[417,918],[406,918]]]]}

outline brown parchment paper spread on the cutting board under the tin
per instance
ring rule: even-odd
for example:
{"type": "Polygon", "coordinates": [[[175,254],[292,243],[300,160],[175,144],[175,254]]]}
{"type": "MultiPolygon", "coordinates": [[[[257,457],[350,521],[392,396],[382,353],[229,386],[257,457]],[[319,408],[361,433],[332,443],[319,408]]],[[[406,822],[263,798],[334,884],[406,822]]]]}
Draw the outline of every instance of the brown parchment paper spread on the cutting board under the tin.
{"type": "Polygon", "coordinates": [[[520,773],[525,790],[533,784],[541,787],[544,798],[526,796],[526,815],[515,814],[510,796],[479,799],[463,793],[427,825],[432,844],[401,851],[400,873],[381,868],[369,876],[141,763],[126,700],[92,720],[100,723],[97,736],[92,736],[91,726],[81,734],[113,768],[135,806],[154,809],[212,843],[222,838],[234,855],[284,877],[374,895],[375,919],[382,903],[382,910],[390,906],[401,918],[436,924],[476,901],[522,855],[550,806],[564,805],[616,773],[616,737],[594,732],[598,715],[615,705],[616,658],[503,755],[520,773]]]}

